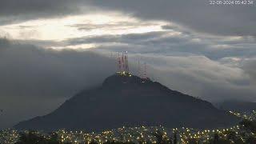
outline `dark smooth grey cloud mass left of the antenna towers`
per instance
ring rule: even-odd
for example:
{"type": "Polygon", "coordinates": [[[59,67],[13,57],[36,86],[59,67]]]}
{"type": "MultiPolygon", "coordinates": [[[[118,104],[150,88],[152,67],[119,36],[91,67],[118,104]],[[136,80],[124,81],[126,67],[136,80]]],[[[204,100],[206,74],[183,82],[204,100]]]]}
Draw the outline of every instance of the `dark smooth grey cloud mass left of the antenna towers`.
{"type": "Polygon", "coordinates": [[[0,127],[54,110],[79,90],[100,84],[115,66],[88,50],[45,50],[0,39],[0,127]]]}

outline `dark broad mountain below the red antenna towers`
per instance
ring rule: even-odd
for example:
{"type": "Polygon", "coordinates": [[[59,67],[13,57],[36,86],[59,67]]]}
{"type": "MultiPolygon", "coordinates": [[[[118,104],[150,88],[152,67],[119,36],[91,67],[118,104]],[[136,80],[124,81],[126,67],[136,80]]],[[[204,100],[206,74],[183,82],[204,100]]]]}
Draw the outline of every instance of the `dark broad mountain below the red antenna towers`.
{"type": "Polygon", "coordinates": [[[159,82],[114,74],[102,86],[82,90],[45,116],[19,122],[18,130],[110,130],[122,126],[216,128],[238,122],[210,102],[159,82]]]}

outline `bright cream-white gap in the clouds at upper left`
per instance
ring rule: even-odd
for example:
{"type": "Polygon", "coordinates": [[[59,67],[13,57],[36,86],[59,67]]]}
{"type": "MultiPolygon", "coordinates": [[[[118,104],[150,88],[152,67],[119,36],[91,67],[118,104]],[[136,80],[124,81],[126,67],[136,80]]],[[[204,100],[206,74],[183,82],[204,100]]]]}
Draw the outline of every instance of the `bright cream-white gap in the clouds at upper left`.
{"type": "MultiPolygon", "coordinates": [[[[68,38],[115,34],[140,34],[161,31],[167,22],[141,21],[120,13],[85,14],[65,18],[38,19],[12,25],[0,26],[0,31],[19,40],[49,40],[61,42],[68,38]]],[[[65,48],[90,48],[66,46],[65,48]]],[[[52,47],[60,49],[59,47],[52,47]]]]}

